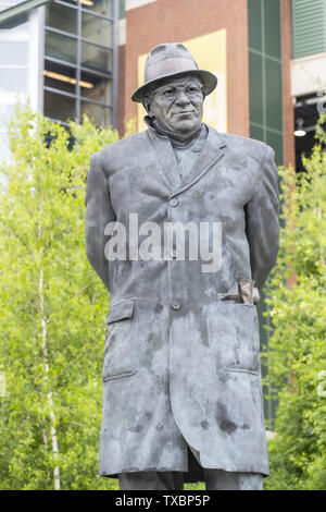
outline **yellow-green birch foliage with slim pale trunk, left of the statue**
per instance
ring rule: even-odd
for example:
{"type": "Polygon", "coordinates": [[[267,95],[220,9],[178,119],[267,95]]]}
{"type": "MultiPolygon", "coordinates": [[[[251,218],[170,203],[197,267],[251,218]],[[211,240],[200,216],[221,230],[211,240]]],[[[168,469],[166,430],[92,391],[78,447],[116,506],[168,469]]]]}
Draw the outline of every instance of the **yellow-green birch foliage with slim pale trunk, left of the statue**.
{"type": "Polygon", "coordinates": [[[0,202],[0,489],[108,489],[97,476],[108,291],[85,253],[89,157],[117,139],[29,109],[0,202]]]}

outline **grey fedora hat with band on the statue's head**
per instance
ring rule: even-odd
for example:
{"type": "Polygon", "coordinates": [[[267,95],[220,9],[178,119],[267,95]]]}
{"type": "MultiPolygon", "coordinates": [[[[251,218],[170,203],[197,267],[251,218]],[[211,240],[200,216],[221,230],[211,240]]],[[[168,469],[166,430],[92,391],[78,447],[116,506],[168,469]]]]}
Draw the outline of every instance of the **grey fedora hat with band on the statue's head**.
{"type": "Polygon", "coordinates": [[[158,45],[150,50],[147,57],[143,85],[133,93],[131,100],[141,102],[146,93],[163,78],[183,75],[198,76],[203,84],[205,96],[211,94],[217,84],[217,78],[213,73],[198,69],[190,51],[180,42],[158,45]]]}

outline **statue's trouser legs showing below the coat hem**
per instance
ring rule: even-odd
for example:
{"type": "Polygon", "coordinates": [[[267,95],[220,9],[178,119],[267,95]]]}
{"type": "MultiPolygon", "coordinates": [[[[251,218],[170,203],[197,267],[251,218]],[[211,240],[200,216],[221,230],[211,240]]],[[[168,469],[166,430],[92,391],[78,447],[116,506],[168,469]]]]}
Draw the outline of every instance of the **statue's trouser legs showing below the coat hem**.
{"type": "MultiPolygon", "coordinates": [[[[181,472],[135,472],[118,475],[120,490],[184,490],[181,472]]],[[[204,470],[206,490],[262,490],[263,476],[259,473],[230,473],[204,470]]]]}

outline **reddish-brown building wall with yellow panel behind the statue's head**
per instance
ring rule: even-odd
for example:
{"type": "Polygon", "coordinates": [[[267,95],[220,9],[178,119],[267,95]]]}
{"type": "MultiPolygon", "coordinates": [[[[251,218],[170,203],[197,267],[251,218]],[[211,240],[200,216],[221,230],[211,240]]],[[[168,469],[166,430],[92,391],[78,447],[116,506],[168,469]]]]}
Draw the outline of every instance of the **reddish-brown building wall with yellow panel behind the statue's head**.
{"type": "Polygon", "coordinates": [[[120,120],[136,117],[139,124],[139,108],[129,97],[141,80],[143,56],[159,42],[179,40],[192,49],[200,68],[211,64],[210,71],[218,75],[217,89],[224,89],[216,105],[210,105],[216,115],[208,115],[208,122],[221,130],[220,120],[222,131],[265,141],[275,148],[278,163],[285,157],[291,160],[291,148],[283,147],[283,62],[289,60],[290,34],[281,34],[281,19],[289,7],[289,1],[278,0],[127,0],[120,120]]]}

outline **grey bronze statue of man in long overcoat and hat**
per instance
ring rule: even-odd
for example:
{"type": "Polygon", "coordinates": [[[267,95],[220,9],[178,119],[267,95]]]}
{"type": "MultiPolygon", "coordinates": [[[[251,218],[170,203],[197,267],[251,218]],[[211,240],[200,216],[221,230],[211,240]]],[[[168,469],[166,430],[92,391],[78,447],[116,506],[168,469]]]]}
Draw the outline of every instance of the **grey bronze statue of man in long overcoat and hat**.
{"type": "Polygon", "coordinates": [[[202,123],[216,77],[181,44],[147,59],[148,130],[95,154],[87,255],[111,293],[100,475],[120,487],[261,489],[255,303],[278,251],[274,151],[202,123]]]}

